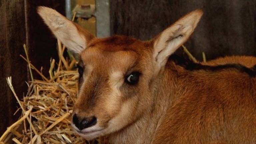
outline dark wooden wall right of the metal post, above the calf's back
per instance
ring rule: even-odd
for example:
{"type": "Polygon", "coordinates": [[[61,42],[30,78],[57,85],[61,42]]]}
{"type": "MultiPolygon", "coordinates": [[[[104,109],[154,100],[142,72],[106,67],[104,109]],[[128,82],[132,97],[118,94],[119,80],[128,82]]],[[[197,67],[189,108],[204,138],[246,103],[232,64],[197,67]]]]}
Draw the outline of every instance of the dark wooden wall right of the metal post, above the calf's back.
{"type": "MultiPolygon", "coordinates": [[[[194,34],[185,43],[200,61],[226,55],[256,56],[255,1],[111,0],[111,34],[148,40],[186,13],[203,9],[194,34]]],[[[179,49],[177,53],[187,55],[179,49]]]]}

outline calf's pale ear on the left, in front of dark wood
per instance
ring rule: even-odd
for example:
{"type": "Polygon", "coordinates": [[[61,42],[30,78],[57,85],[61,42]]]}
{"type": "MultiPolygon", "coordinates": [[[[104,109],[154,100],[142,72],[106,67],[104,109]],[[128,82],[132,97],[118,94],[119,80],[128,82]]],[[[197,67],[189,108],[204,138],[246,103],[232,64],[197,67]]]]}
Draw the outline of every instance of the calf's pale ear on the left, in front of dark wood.
{"type": "Polygon", "coordinates": [[[37,12],[53,34],[75,55],[84,50],[89,41],[94,38],[88,31],[54,9],[39,6],[37,12]]]}

